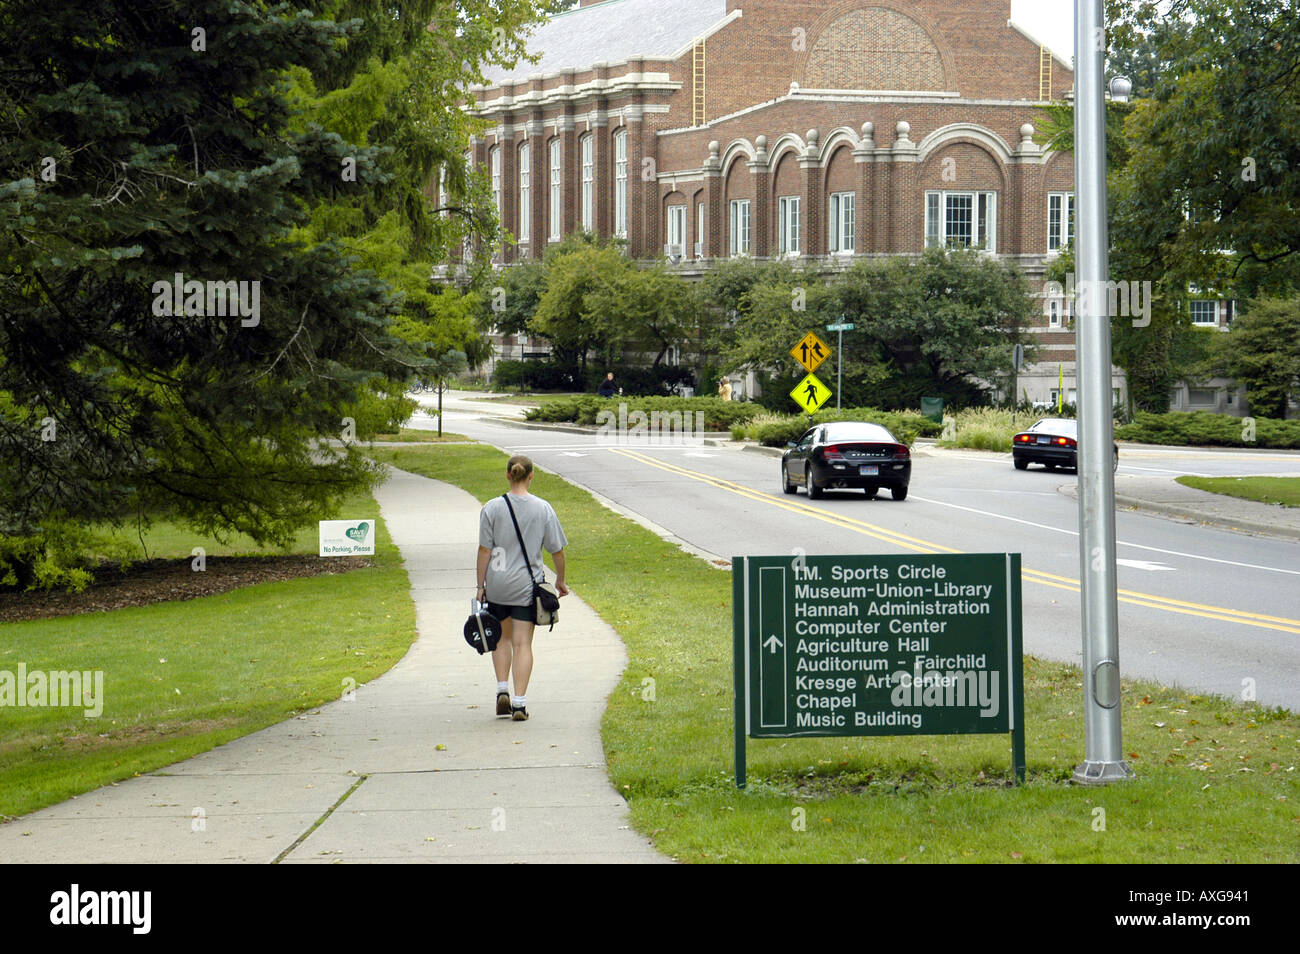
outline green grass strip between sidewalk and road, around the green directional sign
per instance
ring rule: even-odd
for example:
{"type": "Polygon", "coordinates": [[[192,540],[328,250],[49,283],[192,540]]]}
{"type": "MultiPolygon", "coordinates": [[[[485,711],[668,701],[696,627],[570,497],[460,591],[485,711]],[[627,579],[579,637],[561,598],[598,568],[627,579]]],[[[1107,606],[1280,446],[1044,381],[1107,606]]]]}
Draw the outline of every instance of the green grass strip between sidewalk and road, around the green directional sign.
{"type": "MultiPolygon", "coordinates": [[[[506,458],[488,447],[373,455],[480,500],[504,489],[506,458]]],[[[611,780],[637,829],[680,860],[1300,860],[1300,719],[1126,682],[1138,779],[1076,788],[1066,780],[1084,755],[1079,669],[1028,656],[1023,786],[1010,784],[1009,738],[931,736],[750,740],[740,792],[731,573],[552,474],[538,472],[533,491],[569,538],[568,584],[628,647],[602,727],[611,780]]]]}

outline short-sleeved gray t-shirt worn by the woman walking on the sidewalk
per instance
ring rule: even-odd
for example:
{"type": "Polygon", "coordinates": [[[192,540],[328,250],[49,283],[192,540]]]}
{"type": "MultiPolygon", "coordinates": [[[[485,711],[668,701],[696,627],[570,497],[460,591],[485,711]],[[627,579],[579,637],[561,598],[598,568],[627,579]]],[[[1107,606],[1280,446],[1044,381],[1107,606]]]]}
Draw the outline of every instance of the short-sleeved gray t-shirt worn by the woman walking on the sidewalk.
{"type": "MultiPolygon", "coordinates": [[[[488,561],[488,599],[504,606],[528,606],[533,599],[533,581],[542,578],[542,547],[554,554],[568,545],[568,538],[560,528],[560,520],[546,500],[532,494],[526,496],[510,495],[515,507],[519,532],[524,534],[528,547],[528,560],[532,565],[532,580],[524,568],[524,558],[519,552],[519,537],[510,521],[510,509],[500,496],[494,496],[484,504],[478,515],[478,546],[493,551],[488,561]],[[498,550],[499,547],[499,550],[498,550]]],[[[546,576],[551,580],[551,576],[546,576]]]]}

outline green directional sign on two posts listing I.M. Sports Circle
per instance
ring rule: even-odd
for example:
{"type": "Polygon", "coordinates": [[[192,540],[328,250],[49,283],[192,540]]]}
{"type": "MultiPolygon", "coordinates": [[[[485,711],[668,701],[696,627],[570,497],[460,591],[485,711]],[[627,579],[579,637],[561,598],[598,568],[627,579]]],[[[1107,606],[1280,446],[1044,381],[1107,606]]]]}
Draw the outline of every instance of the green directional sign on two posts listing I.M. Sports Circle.
{"type": "Polygon", "coordinates": [[[1019,554],[737,556],[745,740],[1011,733],[1024,777],[1019,554]]]}

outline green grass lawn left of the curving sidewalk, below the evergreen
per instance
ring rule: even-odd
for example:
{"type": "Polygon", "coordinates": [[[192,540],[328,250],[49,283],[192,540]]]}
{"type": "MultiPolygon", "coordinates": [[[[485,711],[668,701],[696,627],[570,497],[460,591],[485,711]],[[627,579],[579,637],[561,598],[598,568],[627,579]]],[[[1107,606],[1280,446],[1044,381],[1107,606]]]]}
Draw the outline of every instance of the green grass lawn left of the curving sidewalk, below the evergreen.
{"type": "MultiPolygon", "coordinates": [[[[368,494],[344,512],[378,516],[368,494]]],[[[194,600],[0,625],[0,669],[103,672],[103,714],[0,708],[0,815],[148,772],[338,699],[415,639],[402,559],[378,521],[374,565],[194,600]]],[[[151,556],[251,552],[159,524],[151,556]]],[[[138,543],[136,543],[138,546],[138,543]]],[[[291,552],[316,552],[316,528],[291,552]]]]}

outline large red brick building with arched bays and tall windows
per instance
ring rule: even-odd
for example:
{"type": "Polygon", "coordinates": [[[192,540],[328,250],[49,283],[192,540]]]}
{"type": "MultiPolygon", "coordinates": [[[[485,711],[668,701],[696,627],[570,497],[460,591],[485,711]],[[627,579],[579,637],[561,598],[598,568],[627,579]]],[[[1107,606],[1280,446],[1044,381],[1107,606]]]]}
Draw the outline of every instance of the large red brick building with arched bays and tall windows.
{"type": "MultiPolygon", "coordinates": [[[[1074,75],[1010,0],[582,0],[537,30],[537,64],[471,91],[503,264],[588,229],[690,274],[719,257],[983,247],[1043,287],[1072,221],[1072,156],[1034,142],[1074,75]]],[[[1041,361],[1074,378],[1067,303],[1041,361]]],[[[1115,386],[1122,386],[1117,374],[1115,386]]]]}

